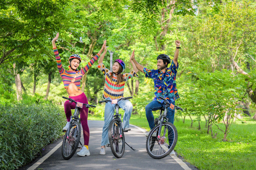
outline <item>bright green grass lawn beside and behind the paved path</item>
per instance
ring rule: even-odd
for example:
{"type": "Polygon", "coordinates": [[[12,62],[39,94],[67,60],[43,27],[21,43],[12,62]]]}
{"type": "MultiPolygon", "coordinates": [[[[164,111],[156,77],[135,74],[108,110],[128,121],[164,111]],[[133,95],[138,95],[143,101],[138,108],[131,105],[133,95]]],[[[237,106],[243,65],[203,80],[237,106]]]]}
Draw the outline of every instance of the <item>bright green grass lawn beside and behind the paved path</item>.
{"type": "MultiPolygon", "coordinates": [[[[123,115],[123,112],[122,112],[123,115]]],[[[155,114],[155,117],[157,114],[155,114]]],[[[101,117],[89,116],[90,120],[103,120],[101,117]]],[[[190,128],[191,121],[186,118],[175,120],[174,125],[178,130],[178,142],[175,151],[187,162],[199,169],[256,169],[256,121],[245,117],[236,120],[231,125],[226,142],[222,141],[223,133],[215,126],[217,138],[207,134],[205,121],[202,118],[201,130],[197,130],[198,123],[190,128]]],[[[132,115],[130,124],[149,130],[146,115],[132,115]]],[[[223,129],[223,124],[218,124],[223,129]]]]}

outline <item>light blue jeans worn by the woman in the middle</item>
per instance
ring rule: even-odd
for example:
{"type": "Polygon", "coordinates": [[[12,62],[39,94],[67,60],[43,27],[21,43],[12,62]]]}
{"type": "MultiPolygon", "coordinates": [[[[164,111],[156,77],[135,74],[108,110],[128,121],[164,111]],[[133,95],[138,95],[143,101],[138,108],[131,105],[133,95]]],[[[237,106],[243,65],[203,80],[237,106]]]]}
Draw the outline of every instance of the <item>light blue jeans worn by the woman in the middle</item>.
{"type": "MultiPolygon", "coordinates": [[[[110,99],[109,97],[106,98],[110,99]]],[[[118,101],[119,107],[124,110],[123,116],[123,129],[129,128],[129,121],[132,114],[132,103],[129,100],[120,100],[118,101]]],[[[109,143],[108,141],[108,126],[111,120],[113,120],[113,115],[115,111],[115,104],[111,104],[110,102],[106,103],[105,105],[105,112],[104,112],[104,125],[102,129],[102,137],[101,137],[101,146],[105,146],[109,143]]]]}

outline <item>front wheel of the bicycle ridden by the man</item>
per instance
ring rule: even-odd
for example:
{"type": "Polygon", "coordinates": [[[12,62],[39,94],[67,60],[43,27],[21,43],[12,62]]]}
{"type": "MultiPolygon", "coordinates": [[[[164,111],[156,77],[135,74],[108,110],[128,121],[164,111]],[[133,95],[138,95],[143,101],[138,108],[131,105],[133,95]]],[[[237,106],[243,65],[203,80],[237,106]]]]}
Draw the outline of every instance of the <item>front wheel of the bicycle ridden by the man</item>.
{"type": "Polygon", "coordinates": [[[158,134],[160,124],[157,124],[148,134],[146,148],[148,155],[155,159],[162,159],[169,155],[174,149],[178,132],[175,126],[170,122],[164,122],[161,127],[161,133],[156,137],[154,132],[158,134]]]}

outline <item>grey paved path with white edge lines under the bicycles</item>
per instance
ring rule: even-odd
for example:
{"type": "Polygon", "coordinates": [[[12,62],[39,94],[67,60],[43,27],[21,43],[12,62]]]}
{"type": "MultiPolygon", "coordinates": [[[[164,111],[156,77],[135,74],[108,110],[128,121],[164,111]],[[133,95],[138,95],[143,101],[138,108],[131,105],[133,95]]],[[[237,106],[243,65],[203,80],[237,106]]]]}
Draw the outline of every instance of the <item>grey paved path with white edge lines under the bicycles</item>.
{"type": "MultiPolygon", "coordinates": [[[[30,165],[26,165],[20,170],[34,169],[177,169],[190,170],[197,169],[195,166],[182,162],[177,156],[167,156],[163,159],[151,158],[146,150],[146,137],[143,134],[145,130],[131,125],[132,130],[126,132],[125,141],[132,146],[135,151],[125,146],[125,153],[122,158],[117,159],[110,148],[106,149],[106,155],[100,155],[100,142],[103,121],[89,121],[90,143],[89,150],[91,155],[79,157],[76,154],[69,160],[61,156],[61,143],[59,139],[47,146],[30,165]]],[[[83,135],[82,135],[83,137],[83,135]]],[[[83,138],[81,138],[83,143],[83,138]]],[[[79,151],[79,149],[78,149],[79,151]]]]}

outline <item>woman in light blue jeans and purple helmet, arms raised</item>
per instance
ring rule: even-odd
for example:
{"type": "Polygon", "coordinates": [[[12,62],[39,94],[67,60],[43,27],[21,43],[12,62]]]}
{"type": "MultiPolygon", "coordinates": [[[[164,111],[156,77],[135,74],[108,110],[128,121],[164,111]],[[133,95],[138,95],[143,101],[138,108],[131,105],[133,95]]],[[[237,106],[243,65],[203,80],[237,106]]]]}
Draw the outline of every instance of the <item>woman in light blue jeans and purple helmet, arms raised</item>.
{"type": "MultiPolygon", "coordinates": [[[[133,66],[133,69],[130,73],[122,73],[125,69],[125,64],[122,60],[116,60],[113,64],[113,71],[110,72],[105,65],[102,63],[105,54],[107,53],[107,48],[104,48],[104,53],[99,59],[98,68],[102,71],[105,75],[105,87],[103,91],[103,97],[106,99],[118,99],[124,96],[124,84],[130,78],[138,75],[137,67],[131,60],[132,56],[134,55],[134,51],[132,52],[130,62],[133,66]]],[[[120,100],[118,101],[119,107],[124,110],[124,117],[123,117],[123,129],[124,131],[129,131],[129,121],[132,114],[132,103],[129,100],[120,100]]],[[[105,105],[105,112],[104,112],[104,125],[102,129],[102,137],[101,137],[101,149],[100,155],[105,155],[105,146],[109,143],[108,141],[108,126],[110,121],[112,120],[114,114],[114,104],[110,102],[106,103],[105,105]]]]}

